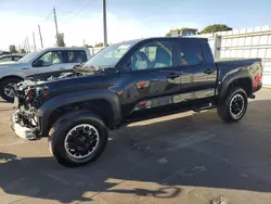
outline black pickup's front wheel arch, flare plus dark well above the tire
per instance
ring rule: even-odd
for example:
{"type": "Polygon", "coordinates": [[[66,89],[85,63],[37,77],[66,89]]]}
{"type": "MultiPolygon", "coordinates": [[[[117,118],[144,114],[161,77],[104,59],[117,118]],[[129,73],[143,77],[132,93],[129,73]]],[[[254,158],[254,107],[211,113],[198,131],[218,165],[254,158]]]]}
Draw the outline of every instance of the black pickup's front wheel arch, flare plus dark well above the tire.
{"type": "Polygon", "coordinates": [[[121,120],[118,95],[108,90],[88,90],[65,93],[43,103],[38,110],[41,135],[48,131],[60,116],[76,110],[88,110],[101,116],[109,129],[121,120]]]}

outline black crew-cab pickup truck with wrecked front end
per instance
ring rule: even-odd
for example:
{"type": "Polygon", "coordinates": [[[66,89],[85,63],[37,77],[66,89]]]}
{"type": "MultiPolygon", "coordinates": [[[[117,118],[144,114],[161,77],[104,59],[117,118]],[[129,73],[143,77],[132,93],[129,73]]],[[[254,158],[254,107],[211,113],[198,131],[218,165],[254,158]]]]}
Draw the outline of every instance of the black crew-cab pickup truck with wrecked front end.
{"type": "Polygon", "coordinates": [[[237,122],[261,76],[260,59],[215,62],[204,38],[126,41],[72,73],[15,86],[12,128],[29,140],[48,137],[59,163],[80,166],[101,155],[108,129],[132,120],[217,107],[222,120],[237,122]]]}

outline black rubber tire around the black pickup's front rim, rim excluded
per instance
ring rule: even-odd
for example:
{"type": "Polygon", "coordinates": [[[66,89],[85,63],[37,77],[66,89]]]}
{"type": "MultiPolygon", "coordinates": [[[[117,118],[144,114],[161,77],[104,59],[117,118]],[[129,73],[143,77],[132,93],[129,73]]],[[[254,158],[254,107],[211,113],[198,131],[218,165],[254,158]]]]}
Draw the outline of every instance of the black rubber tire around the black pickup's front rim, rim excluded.
{"type": "Polygon", "coordinates": [[[51,127],[48,137],[49,151],[54,158],[66,167],[78,167],[94,162],[104,152],[108,140],[108,129],[104,122],[89,111],[77,111],[61,116],[51,127]],[[65,138],[73,127],[90,124],[99,132],[99,144],[91,155],[86,158],[74,158],[65,150],[65,138]]]}

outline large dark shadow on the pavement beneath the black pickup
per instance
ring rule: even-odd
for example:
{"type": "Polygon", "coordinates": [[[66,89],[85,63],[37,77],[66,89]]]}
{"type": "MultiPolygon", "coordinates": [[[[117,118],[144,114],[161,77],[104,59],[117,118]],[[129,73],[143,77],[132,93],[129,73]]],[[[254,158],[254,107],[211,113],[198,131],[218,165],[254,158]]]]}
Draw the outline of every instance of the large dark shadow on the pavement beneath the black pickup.
{"type": "Polygon", "coordinates": [[[68,203],[100,192],[172,199],[185,186],[270,192],[270,111],[271,101],[253,101],[236,124],[215,111],[131,124],[113,132],[99,161],[74,169],[49,156],[0,153],[0,194],[68,203]]]}

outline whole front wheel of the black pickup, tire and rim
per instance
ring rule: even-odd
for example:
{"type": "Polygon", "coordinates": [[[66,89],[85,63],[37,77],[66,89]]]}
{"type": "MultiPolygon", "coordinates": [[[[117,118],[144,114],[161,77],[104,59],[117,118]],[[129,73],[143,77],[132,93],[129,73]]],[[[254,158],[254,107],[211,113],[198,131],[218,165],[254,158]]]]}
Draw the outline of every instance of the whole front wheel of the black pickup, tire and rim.
{"type": "Polygon", "coordinates": [[[108,130],[94,114],[74,112],[59,118],[49,132],[49,149],[67,167],[95,161],[107,144],[108,130]]]}

